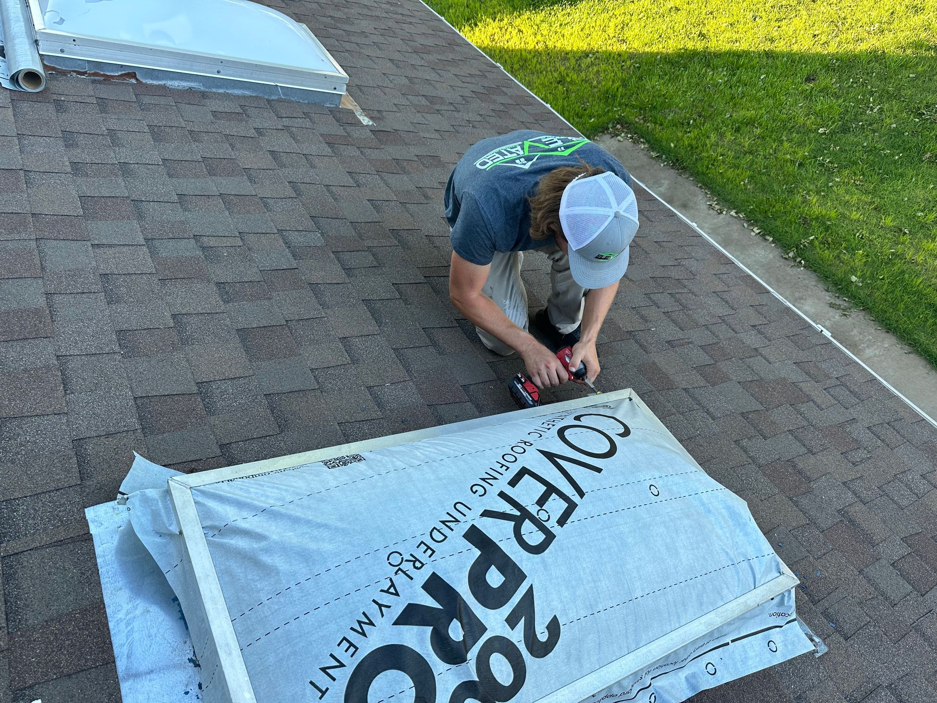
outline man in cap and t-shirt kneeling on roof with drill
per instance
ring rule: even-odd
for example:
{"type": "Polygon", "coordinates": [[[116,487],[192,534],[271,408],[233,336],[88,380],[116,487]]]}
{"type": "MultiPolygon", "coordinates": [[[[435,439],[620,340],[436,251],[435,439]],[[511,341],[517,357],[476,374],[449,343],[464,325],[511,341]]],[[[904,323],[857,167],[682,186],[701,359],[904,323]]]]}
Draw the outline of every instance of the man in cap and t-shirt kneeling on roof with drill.
{"type": "Polygon", "coordinates": [[[638,228],[630,183],[602,147],[529,129],[476,143],[449,177],[450,298],[485,347],[518,352],[541,388],[569,376],[528,332],[523,252],[539,249],[553,264],[550,298],[532,322],[557,349],[572,346],[570,367],[585,363],[595,381],[596,339],[638,228]]]}

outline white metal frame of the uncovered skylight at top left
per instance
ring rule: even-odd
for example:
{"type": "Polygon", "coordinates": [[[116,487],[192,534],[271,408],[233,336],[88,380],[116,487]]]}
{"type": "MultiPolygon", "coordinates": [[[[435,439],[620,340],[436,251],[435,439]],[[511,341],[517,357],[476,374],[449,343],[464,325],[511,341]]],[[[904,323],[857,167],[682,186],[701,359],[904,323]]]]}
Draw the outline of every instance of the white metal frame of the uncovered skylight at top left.
{"type": "Polygon", "coordinates": [[[95,61],[123,69],[133,67],[170,70],[188,75],[226,78],[235,81],[260,82],[288,88],[316,90],[336,96],[345,94],[348,74],[319,38],[302,22],[304,36],[322,52],[333,70],[316,70],[262,61],[244,61],[213,53],[179,51],[133,41],[114,41],[62,32],[46,25],[37,0],[27,0],[36,30],[39,53],[95,61]]]}

